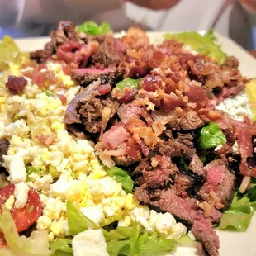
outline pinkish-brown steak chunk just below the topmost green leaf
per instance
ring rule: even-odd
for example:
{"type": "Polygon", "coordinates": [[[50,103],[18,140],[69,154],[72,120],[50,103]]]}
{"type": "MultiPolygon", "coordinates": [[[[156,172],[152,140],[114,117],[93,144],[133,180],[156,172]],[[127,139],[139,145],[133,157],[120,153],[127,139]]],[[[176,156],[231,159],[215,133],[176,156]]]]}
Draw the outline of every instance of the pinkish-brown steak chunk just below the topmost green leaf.
{"type": "Polygon", "coordinates": [[[126,54],[126,45],[117,38],[106,36],[103,43],[92,56],[93,63],[103,64],[105,67],[116,66],[126,54]]]}

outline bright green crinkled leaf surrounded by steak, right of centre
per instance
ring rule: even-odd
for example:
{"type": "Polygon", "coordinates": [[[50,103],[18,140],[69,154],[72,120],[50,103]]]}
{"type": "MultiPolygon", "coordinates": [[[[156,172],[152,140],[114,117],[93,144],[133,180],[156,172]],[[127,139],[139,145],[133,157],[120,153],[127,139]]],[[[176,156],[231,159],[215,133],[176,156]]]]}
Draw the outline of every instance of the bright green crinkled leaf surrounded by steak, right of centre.
{"type": "Polygon", "coordinates": [[[225,135],[218,124],[211,122],[208,126],[201,128],[199,142],[202,149],[215,148],[217,145],[225,144],[225,135]]]}

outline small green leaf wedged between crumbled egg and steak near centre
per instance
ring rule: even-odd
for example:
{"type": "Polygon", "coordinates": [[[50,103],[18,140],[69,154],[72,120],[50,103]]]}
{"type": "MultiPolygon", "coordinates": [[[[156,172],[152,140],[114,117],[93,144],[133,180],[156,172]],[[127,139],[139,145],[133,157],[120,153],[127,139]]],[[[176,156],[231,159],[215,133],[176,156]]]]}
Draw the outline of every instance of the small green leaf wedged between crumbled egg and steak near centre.
{"type": "Polygon", "coordinates": [[[106,168],[106,172],[109,176],[115,177],[117,183],[121,183],[121,186],[126,192],[132,192],[134,183],[126,171],[118,167],[111,167],[106,168]]]}

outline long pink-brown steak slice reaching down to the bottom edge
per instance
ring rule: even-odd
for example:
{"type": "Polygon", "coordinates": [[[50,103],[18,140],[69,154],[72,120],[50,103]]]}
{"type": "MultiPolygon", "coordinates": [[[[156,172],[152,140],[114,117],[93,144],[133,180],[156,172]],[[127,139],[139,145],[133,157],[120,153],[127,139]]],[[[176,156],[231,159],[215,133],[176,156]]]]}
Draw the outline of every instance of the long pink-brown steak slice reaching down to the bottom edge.
{"type": "Polygon", "coordinates": [[[155,197],[153,201],[149,201],[149,193],[147,194],[142,188],[138,192],[135,191],[135,197],[159,211],[170,212],[179,220],[192,225],[193,234],[201,240],[208,254],[219,255],[220,241],[215,231],[212,230],[211,222],[220,220],[220,211],[211,208],[211,216],[206,218],[195,198],[179,197],[174,187],[158,192],[158,197],[155,197]]]}

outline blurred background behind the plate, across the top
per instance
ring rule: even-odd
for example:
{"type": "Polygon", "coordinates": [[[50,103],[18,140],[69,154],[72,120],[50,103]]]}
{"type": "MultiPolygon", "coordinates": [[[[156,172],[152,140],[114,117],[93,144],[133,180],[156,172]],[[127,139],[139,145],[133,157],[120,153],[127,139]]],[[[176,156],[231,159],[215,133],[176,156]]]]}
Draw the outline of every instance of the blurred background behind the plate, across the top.
{"type": "Polygon", "coordinates": [[[0,37],[48,36],[60,20],[110,23],[113,31],[207,30],[256,49],[256,0],[0,0],[0,37]]]}

